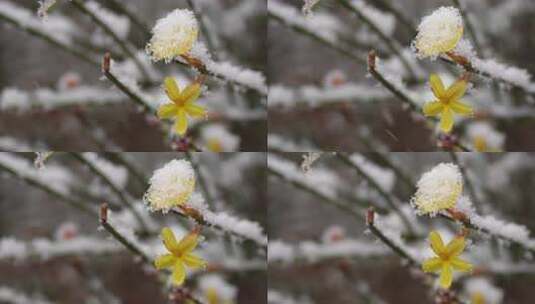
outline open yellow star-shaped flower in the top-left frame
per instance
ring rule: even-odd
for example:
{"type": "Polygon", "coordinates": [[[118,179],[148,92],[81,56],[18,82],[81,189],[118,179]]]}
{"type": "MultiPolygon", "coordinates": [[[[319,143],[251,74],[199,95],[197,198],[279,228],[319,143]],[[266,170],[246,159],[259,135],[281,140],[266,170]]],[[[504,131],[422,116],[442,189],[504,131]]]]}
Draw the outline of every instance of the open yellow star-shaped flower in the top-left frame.
{"type": "Polygon", "coordinates": [[[195,104],[201,95],[201,84],[194,82],[187,86],[182,92],[173,77],[166,77],[164,80],[165,92],[171,100],[158,108],[160,119],[176,118],[174,129],[179,135],[184,135],[188,129],[188,116],[204,117],[206,109],[195,104]]]}

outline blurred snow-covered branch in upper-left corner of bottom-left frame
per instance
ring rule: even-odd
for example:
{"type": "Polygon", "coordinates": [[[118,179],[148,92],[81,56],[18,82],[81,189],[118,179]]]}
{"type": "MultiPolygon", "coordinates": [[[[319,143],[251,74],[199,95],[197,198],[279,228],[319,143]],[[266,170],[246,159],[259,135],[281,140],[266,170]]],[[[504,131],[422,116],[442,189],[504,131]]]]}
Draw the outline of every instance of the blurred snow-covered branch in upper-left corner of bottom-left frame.
{"type": "Polygon", "coordinates": [[[75,180],[72,174],[62,167],[50,164],[42,169],[36,169],[24,158],[7,152],[0,152],[0,164],[11,168],[19,176],[37,180],[63,194],[69,193],[69,188],[75,180]]]}

